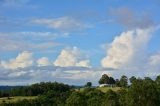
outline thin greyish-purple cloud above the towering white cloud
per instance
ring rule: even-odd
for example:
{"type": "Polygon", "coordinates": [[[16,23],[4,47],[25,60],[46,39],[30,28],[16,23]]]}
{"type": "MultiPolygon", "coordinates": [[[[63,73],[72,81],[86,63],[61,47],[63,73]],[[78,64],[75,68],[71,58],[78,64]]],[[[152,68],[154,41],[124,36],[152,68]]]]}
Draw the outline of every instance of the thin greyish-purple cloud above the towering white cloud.
{"type": "Polygon", "coordinates": [[[111,16],[115,17],[115,21],[127,28],[148,28],[155,23],[147,14],[136,14],[127,7],[121,7],[110,10],[111,16]]]}

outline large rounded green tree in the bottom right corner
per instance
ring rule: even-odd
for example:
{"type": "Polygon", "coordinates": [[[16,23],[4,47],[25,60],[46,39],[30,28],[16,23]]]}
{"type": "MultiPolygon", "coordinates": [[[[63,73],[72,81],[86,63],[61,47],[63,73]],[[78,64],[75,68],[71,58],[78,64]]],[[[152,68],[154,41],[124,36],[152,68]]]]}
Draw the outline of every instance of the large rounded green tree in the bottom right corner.
{"type": "Polygon", "coordinates": [[[153,80],[135,80],[127,94],[127,106],[159,106],[159,94],[153,80]]]}

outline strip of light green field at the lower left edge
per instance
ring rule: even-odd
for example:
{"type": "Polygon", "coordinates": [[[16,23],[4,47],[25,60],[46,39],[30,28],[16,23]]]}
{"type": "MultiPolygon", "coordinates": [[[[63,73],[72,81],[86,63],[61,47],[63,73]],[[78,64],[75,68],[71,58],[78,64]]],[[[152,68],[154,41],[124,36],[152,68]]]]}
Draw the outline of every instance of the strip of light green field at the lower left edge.
{"type": "Polygon", "coordinates": [[[27,100],[32,100],[32,99],[36,99],[37,96],[15,96],[15,97],[3,97],[3,98],[0,98],[0,104],[1,103],[13,103],[13,102],[16,102],[16,101],[19,101],[19,100],[24,100],[24,99],[27,99],[27,100]]]}

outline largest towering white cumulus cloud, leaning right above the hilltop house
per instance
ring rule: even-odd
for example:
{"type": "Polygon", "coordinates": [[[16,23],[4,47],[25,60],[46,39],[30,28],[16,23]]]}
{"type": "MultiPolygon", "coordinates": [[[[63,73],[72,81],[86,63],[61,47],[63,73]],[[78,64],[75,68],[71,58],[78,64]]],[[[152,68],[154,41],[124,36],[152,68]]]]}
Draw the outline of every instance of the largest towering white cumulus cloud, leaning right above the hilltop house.
{"type": "Polygon", "coordinates": [[[136,63],[136,66],[141,64],[145,58],[143,53],[152,37],[152,31],[152,28],[136,29],[116,36],[101,61],[102,66],[119,69],[130,64],[135,65],[136,63]]]}

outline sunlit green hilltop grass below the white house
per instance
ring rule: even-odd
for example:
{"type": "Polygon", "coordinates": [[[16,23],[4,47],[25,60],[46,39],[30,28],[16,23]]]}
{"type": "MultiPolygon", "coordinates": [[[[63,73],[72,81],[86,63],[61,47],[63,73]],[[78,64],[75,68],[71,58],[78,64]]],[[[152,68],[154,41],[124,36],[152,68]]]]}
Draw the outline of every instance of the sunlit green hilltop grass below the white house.
{"type": "MultiPolygon", "coordinates": [[[[85,88],[80,88],[79,91],[83,92],[85,88]]],[[[121,89],[121,87],[97,87],[96,89],[101,90],[102,92],[107,92],[109,89],[113,90],[113,91],[118,91],[121,89]]]]}

